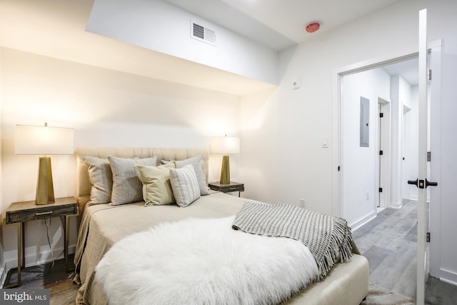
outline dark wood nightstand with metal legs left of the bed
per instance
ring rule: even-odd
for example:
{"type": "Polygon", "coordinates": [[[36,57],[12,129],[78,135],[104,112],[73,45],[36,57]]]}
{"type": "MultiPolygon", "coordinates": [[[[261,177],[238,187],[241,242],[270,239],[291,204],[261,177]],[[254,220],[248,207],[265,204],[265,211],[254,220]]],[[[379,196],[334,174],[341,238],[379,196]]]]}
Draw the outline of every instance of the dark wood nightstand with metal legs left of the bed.
{"type": "MultiPolygon", "coordinates": [[[[74,197],[57,198],[54,204],[36,205],[35,201],[21,201],[12,203],[6,209],[3,219],[4,226],[17,226],[17,284],[4,286],[14,288],[21,286],[21,267],[25,267],[25,223],[36,219],[48,219],[61,216],[64,226],[64,255],[66,269],[69,271],[69,217],[79,215],[78,203],[74,197]],[[65,216],[65,221],[64,221],[65,216]]],[[[9,282],[11,269],[6,276],[5,284],[9,282]]]]}

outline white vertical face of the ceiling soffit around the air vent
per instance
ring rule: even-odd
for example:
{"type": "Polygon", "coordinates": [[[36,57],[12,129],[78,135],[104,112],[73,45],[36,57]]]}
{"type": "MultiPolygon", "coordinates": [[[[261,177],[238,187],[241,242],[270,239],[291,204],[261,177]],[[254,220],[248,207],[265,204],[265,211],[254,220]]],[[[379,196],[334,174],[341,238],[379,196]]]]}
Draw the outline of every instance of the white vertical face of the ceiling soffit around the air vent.
{"type": "Polygon", "coordinates": [[[252,79],[278,83],[278,53],[159,0],[96,0],[86,29],[252,79]],[[216,45],[191,38],[191,20],[216,32],[216,45]]]}

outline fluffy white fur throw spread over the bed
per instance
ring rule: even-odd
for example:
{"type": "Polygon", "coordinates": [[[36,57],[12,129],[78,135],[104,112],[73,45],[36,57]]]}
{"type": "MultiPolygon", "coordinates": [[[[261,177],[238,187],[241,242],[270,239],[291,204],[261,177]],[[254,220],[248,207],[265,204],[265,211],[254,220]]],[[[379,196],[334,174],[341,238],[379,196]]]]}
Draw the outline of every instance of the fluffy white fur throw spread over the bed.
{"type": "Polygon", "coordinates": [[[300,241],[186,219],[114,244],[96,267],[109,304],[278,304],[318,274],[300,241]]]}

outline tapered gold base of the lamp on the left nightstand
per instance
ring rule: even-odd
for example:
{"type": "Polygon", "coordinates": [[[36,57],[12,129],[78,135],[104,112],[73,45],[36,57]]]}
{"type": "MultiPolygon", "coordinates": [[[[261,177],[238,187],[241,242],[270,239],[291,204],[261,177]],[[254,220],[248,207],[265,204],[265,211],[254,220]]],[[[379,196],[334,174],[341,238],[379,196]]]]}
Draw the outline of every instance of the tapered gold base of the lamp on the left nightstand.
{"type": "Polygon", "coordinates": [[[41,156],[36,181],[35,204],[54,204],[54,185],[52,183],[51,158],[41,156]]]}

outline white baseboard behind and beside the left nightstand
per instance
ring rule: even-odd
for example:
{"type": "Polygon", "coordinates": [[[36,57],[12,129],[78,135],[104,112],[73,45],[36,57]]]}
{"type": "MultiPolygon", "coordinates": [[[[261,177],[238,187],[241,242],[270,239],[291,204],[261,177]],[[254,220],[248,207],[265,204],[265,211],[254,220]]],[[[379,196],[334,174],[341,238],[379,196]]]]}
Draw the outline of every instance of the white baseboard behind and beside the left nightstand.
{"type": "MultiPolygon", "coordinates": [[[[69,245],[69,254],[74,254],[76,250],[76,245],[69,245]]],[[[64,259],[64,248],[61,247],[59,249],[54,249],[53,254],[61,254],[58,257],[54,256],[54,261],[58,259],[64,259]]],[[[50,263],[53,261],[53,257],[51,256],[51,251],[45,251],[40,254],[34,254],[34,255],[26,255],[26,267],[30,266],[39,266],[42,264],[50,263]],[[33,263],[31,263],[31,261],[33,263]]],[[[10,259],[8,261],[4,261],[3,265],[1,266],[0,269],[0,282],[1,286],[3,287],[6,279],[6,275],[8,274],[9,269],[11,268],[16,268],[17,267],[17,258],[16,259],[10,259]]]]}

